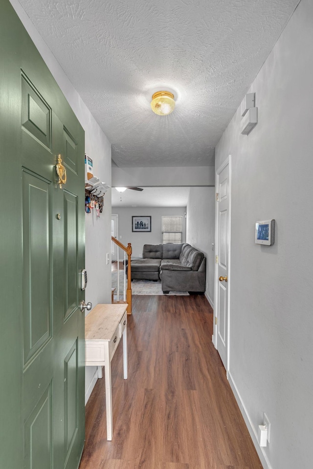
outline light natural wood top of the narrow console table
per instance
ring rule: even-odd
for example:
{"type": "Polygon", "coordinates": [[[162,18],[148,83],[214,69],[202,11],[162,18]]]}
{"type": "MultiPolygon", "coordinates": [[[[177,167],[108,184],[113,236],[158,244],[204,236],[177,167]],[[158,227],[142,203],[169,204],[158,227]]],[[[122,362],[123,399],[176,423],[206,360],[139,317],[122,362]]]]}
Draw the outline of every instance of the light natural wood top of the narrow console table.
{"type": "Polygon", "coordinates": [[[85,340],[110,341],[128,304],[97,304],[85,318],[85,340]]]}

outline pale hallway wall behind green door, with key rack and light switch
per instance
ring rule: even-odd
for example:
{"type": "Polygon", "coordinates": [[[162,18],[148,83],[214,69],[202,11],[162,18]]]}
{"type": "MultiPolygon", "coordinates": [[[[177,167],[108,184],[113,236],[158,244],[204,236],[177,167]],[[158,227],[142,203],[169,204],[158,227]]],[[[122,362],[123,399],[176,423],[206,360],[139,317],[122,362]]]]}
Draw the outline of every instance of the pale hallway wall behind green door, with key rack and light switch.
{"type": "MultiPolygon", "coordinates": [[[[10,2],[85,130],[85,151],[93,160],[94,173],[111,186],[111,144],[109,140],[25,14],[18,0],[10,0],[10,2]]],[[[105,199],[106,203],[100,218],[96,218],[95,213],[86,214],[85,265],[88,271],[86,302],[91,301],[93,306],[97,303],[111,303],[111,265],[106,265],[106,253],[111,252],[111,189],[105,199]]],[[[95,373],[95,367],[86,367],[86,400],[95,384],[95,373]]]]}

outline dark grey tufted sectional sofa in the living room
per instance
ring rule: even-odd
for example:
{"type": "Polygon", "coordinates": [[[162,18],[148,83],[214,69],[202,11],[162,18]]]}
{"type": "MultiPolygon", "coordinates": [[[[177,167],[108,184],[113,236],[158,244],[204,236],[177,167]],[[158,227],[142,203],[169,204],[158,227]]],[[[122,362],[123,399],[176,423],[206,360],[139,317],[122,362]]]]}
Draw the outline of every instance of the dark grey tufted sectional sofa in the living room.
{"type": "Polygon", "coordinates": [[[132,260],[132,280],[160,278],[163,293],[203,294],[205,264],[203,253],[190,244],[145,244],[142,259],[132,260]]]}

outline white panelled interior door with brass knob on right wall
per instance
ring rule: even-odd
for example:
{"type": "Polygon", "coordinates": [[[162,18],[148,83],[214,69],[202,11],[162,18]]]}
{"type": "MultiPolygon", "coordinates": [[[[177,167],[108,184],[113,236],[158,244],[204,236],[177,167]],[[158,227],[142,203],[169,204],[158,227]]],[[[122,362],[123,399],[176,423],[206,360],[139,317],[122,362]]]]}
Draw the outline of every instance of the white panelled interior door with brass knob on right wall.
{"type": "Polygon", "coordinates": [[[215,296],[215,346],[228,370],[228,305],[229,305],[229,209],[230,177],[229,159],[216,173],[216,296],[215,296]]]}

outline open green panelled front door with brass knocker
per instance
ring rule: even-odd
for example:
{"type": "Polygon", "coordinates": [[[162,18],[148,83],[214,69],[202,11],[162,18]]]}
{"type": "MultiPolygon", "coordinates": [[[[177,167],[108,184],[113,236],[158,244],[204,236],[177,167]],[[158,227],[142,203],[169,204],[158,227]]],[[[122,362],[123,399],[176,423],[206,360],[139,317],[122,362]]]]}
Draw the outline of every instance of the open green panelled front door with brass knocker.
{"type": "Polygon", "coordinates": [[[8,0],[0,163],[0,468],[76,469],[85,426],[84,131],[8,0]]]}

